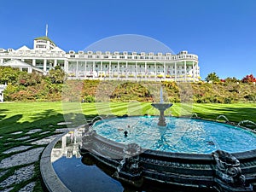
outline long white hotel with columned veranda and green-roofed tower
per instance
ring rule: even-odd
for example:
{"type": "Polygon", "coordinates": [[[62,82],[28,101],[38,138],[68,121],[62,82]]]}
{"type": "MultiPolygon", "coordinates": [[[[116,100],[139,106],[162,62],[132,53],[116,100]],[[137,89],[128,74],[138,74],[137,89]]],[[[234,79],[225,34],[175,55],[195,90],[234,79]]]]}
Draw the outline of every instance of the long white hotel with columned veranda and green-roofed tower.
{"type": "Polygon", "coordinates": [[[28,73],[48,73],[60,66],[68,79],[124,79],[198,81],[198,56],[171,53],[102,52],[60,49],[48,37],[35,38],[33,49],[0,49],[0,66],[19,67],[28,73]]]}

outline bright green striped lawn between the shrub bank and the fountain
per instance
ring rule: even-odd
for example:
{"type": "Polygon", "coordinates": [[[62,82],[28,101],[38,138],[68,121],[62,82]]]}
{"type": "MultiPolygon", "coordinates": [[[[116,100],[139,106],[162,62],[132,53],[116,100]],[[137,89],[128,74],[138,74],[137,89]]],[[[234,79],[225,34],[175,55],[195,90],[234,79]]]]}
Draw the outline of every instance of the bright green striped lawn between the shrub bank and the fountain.
{"type": "MultiPolygon", "coordinates": [[[[61,128],[62,121],[74,121],[76,125],[84,123],[84,119],[92,119],[96,115],[140,115],[159,112],[150,103],[140,102],[3,102],[0,103],[0,134],[32,128],[45,130],[61,128]],[[64,116],[63,116],[64,114],[64,116]]],[[[230,121],[241,120],[256,122],[256,103],[238,104],[179,104],[174,103],[166,111],[166,115],[191,116],[196,113],[203,119],[216,119],[224,114],[230,121]]]]}

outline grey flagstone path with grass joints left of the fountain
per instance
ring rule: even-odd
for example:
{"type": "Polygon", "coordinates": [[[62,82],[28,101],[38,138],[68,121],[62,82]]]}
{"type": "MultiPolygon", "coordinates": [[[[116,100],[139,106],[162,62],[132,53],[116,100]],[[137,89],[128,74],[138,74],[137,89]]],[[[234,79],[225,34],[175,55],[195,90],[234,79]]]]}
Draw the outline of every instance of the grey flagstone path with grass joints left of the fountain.
{"type": "Polygon", "coordinates": [[[0,161],[0,192],[33,191],[36,186],[35,180],[38,180],[37,174],[40,174],[35,171],[39,170],[40,154],[48,143],[58,137],[56,132],[65,131],[67,129],[55,132],[33,129],[1,136],[0,139],[6,139],[7,143],[3,144],[6,150],[0,153],[1,157],[4,157],[0,161]],[[13,143],[17,146],[11,147],[13,143]]]}

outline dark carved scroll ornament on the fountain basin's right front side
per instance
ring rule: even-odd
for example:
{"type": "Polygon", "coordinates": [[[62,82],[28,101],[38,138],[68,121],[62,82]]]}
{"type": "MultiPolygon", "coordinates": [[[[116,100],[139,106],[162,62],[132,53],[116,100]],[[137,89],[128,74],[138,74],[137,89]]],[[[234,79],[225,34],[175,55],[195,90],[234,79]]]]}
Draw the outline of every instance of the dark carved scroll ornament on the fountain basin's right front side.
{"type": "Polygon", "coordinates": [[[222,182],[232,186],[244,186],[246,178],[241,173],[240,161],[233,155],[217,150],[212,153],[216,162],[216,175],[222,182]]]}

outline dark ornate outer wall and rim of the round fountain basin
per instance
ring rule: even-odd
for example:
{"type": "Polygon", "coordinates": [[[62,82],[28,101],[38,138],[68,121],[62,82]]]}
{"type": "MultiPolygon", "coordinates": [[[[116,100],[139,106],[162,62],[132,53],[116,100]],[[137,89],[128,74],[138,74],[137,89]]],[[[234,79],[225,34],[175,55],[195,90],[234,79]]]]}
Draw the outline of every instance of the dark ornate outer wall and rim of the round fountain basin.
{"type": "MultiPolygon", "coordinates": [[[[122,119],[125,122],[132,121],[132,118],[129,119],[129,117],[122,119]]],[[[120,129],[120,119],[109,120],[113,120],[115,128],[120,129]]],[[[155,120],[148,119],[148,121],[154,122],[155,120]]],[[[199,124],[204,122],[198,119],[197,121],[199,124]]],[[[227,189],[224,191],[236,191],[236,189],[239,189],[239,191],[253,191],[251,183],[256,182],[256,148],[244,149],[240,152],[223,153],[226,153],[226,157],[234,157],[240,162],[239,167],[236,168],[241,169],[242,175],[242,177],[241,175],[236,175],[233,178],[233,176],[223,173],[224,177],[229,177],[229,181],[245,178],[242,184],[236,182],[229,183],[219,176],[221,175],[219,173],[221,171],[218,171],[218,167],[216,166],[218,160],[216,158],[214,159],[214,157],[216,157],[215,154],[218,154],[217,151],[219,148],[205,154],[179,151],[166,152],[142,148],[140,145],[131,141],[122,143],[99,135],[97,133],[99,131],[95,131],[95,126],[101,125],[102,122],[104,120],[96,122],[95,125],[92,125],[85,131],[79,152],[84,157],[90,154],[105,166],[115,169],[116,172],[113,174],[113,177],[116,177],[120,181],[130,183],[137,187],[143,185],[145,181],[154,181],[156,183],[167,183],[197,189],[227,189]]],[[[231,125],[228,126],[229,128],[231,127],[231,125]]],[[[125,126],[121,125],[121,127],[125,126]]],[[[234,129],[238,128],[234,127],[234,129]]],[[[163,130],[163,127],[160,126],[160,130],[163,130]]],[[[252,137],[255,137],[255,135],[252,135],[252,137]]],[[[146,137],[146,139],[148,138],[146,137]]],[[[164,139],[163,141],[166,140],[164,139]]],[[[211,143],[209,144],[211,146],[211,143]]]]}

